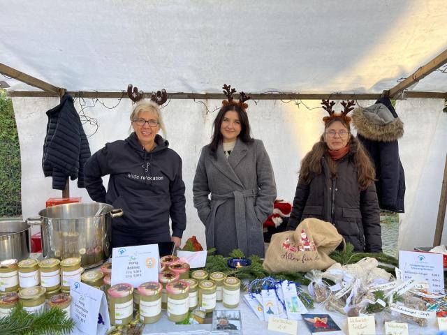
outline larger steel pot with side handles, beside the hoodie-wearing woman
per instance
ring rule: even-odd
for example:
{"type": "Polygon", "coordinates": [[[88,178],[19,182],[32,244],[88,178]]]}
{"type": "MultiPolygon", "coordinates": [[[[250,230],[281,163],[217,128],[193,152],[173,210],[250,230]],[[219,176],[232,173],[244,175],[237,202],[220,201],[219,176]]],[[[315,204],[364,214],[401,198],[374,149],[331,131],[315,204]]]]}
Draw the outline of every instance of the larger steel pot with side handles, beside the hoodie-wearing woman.
{"type": "Polygon", "coordinates": [[[80,256],[82,267],[89,269],[110,256],[112,218],[122,215],[110,204],[79,202],[48,207],[26,222],[41,226],[44,258],[80,256]]]}

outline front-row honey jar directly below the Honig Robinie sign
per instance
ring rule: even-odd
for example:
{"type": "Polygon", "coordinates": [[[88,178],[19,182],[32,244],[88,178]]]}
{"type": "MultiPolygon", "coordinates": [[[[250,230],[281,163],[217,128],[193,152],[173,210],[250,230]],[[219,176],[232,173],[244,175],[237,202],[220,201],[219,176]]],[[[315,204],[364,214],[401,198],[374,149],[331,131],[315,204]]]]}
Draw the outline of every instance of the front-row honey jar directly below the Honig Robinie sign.
{"type": "Polygon", "coordinates": [[[140,295],[140,321],[154,323],[161,318],[161,283],[148,281],[138,286],[140,295]]]}

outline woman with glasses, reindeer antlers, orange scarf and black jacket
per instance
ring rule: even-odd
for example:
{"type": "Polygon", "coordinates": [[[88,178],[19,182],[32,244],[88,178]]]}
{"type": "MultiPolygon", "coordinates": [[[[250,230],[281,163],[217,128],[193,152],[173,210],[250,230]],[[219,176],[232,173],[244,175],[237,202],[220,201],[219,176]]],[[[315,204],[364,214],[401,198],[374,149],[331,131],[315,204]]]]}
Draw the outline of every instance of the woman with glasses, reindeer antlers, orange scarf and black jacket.
{"type": "Polygon", "coordinates": [[[323,119],[319,142],[301,162],[288,229],[294,230],[305,218],[319,218],[335,225],[356,251],[379,253],[382,240],[374,167],[351,135],[347,114],[353,101],[342,104],[344,112],[335,114],[334,103],[323,101],[330,116],[323,119]]]}

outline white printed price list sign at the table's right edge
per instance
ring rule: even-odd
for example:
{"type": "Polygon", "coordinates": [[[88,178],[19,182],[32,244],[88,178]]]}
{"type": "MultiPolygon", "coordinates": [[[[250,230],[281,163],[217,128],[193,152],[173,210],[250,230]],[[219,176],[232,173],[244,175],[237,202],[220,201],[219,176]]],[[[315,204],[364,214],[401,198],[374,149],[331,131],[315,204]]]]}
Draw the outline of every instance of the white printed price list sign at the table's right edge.
{"type": "Polygon", "coordinates": [[[444,291],[443,255],[440,253],[418,253],[399,251],[399,268],[404,281],[420,274],[430,285],[430,292],[444,291]]]}

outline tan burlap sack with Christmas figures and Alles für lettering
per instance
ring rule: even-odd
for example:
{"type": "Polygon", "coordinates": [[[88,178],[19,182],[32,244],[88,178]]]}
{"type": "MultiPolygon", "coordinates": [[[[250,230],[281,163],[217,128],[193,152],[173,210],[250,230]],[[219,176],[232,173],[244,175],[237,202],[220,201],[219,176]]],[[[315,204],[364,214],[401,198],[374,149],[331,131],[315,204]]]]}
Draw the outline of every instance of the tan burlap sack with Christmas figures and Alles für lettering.
{"type": "Polygon", "coordinates": [[[295,231],[272,236],[263,267],[273,273],[328,269],[335,263],[328,254],[342,241],[342,235],[331,223],[306,218],[295,231]]]}

